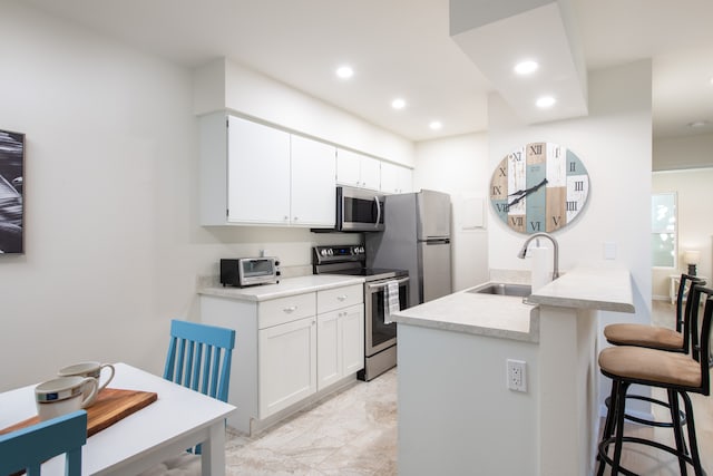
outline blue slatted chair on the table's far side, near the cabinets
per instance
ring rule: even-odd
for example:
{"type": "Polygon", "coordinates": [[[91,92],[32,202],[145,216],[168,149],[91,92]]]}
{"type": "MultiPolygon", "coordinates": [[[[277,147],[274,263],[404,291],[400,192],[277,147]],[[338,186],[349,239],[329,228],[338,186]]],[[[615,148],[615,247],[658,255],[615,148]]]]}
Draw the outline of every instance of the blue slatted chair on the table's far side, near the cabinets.
{"type": "Polygon", "coordinates": [[[164,378],[227,401],[234,348],[233,329],[174,319],[164,378]]]}

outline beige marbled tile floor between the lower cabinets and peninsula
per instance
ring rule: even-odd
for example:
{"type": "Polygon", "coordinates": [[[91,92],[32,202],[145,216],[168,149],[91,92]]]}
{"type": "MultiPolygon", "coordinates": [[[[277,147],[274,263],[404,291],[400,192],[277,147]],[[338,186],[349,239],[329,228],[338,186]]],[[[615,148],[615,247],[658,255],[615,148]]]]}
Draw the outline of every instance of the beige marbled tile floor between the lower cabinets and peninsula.
{"type": "Polygon", "coordinates": [[[254,437],[229,431],[227,475],[397,474],[397,369],[358,381],[254,437]]]}

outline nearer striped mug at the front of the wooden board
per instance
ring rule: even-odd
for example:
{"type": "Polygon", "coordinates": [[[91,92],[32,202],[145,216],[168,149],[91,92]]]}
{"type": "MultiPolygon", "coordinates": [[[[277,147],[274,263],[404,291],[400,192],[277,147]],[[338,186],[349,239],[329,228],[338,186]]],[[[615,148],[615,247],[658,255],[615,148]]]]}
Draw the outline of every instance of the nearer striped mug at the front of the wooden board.
{"type": "Polygon", "coordinates": [[[87,408],[97,398],[98,383],[92,377],[60,377],[35,387],[35,402],[40,421],[87,408]],[[88,389],[88,396],[84,391],[88,389]]]}

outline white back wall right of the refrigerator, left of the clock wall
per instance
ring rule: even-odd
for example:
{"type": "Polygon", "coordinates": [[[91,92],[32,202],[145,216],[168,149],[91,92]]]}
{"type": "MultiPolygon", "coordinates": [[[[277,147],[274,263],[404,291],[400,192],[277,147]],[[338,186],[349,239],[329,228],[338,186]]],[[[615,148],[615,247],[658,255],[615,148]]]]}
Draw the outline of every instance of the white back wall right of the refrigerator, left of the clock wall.
{"type": "Polygon", "coordinates": [[[452,204],[453,291],[488,280],[487,190],[489,183],[488,136],[468,134],[417,143],[414,190],[449,193],[452,204]],[[466,210],[482,200],[482,229],[463,229],[473,211],[466,210]]]}

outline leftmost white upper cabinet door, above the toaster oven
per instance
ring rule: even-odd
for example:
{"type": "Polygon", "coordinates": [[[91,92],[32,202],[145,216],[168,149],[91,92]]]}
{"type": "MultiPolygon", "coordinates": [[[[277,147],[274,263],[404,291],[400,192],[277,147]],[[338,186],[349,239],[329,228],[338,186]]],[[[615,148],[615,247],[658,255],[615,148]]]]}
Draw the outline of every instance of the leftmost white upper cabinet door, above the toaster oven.
{"type": "Polygon", "coordinates": [[[228,222],[287,224],[290,134],[228,116],[228,222]]]}

